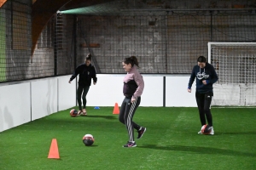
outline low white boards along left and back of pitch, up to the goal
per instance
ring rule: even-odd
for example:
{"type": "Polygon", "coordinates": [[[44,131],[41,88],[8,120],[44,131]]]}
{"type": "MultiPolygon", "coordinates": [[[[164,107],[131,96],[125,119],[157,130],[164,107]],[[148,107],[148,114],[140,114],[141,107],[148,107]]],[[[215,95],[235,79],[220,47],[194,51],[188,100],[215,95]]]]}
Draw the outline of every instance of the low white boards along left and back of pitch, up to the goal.
{"type": "MultiPolygon", "coordinates": [[[[88,106],[121,105],[123,75],[97,75],[98,82],[87,94],[88,106]]],[[[163,106],[164,75],[143,75],[145,88],[141,106],[163,106]]],[[[70,76],[51,77],[0,85],[0,132],[76,104],[76,82],[70,76]]],[[[166,107],[196,106],[195,83],[187,92],[189,76],[166,76],[166,107]]]]}

